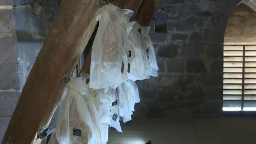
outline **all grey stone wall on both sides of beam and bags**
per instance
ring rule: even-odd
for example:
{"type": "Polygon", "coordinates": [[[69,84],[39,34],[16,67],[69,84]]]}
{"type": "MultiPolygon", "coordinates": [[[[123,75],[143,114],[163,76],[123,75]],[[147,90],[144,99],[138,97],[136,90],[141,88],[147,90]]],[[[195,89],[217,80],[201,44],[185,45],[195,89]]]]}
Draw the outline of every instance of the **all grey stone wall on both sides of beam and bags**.
{"type": "MultiPolygon", "coordinates": [[[[138,81],[135,116],[221,116],[223,41],[240,0],[161,0],[151,21],[159,77],[138,81]]],[[[0,1],[0,140],[59,0],[0,1]]]]}

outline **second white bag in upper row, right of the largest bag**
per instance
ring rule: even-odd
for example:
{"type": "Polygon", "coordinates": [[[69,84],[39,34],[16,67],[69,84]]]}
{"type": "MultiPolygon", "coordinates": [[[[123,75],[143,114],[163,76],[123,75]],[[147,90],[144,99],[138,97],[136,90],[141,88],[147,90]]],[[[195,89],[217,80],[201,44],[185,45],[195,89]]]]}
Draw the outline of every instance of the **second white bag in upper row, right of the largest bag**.
{"type": "Polygon", "coordinates": [[[141,26],[135,23],[129,34],[129,60],[128,79],[133,81],[149,79],[150,62],[141,43],[141,26]]]}

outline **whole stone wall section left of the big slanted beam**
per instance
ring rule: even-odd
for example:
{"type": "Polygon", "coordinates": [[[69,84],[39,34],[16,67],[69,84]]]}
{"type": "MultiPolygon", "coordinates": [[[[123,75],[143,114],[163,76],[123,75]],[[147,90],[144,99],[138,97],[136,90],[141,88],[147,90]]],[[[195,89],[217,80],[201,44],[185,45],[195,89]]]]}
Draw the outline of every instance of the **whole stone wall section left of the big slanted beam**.
{"type": "Polygon", "coordinates": [[[59,3],[0,1],[0,141],[59,3]]]}

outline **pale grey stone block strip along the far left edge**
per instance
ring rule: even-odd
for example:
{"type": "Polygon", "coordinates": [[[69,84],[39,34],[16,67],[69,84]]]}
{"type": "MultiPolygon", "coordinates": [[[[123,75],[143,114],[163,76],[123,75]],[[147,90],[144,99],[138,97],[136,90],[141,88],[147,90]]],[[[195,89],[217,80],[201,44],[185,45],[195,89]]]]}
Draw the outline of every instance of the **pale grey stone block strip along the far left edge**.
{"type": "Polygon", "coordinates": [[[20,94],[12,0],[0,1],[0,141],[20,94]]]}

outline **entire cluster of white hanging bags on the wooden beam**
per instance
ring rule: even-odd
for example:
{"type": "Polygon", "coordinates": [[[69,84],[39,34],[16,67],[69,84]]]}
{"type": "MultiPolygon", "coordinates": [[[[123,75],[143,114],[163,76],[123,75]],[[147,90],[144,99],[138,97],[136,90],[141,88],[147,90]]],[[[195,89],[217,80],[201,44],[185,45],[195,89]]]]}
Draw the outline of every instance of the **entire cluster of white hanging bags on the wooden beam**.
{"type": "Polygon", "coordinates": [[[140,102],[136,80],[158,76],[149,27],[130,22],[132,10],[108,4],[95,15],[90,82],[71,78],[49,144],[107,144],[109,127],[122,132],[140,102]],[[89,85],[89,86],[88,86],[89,85]]]}

